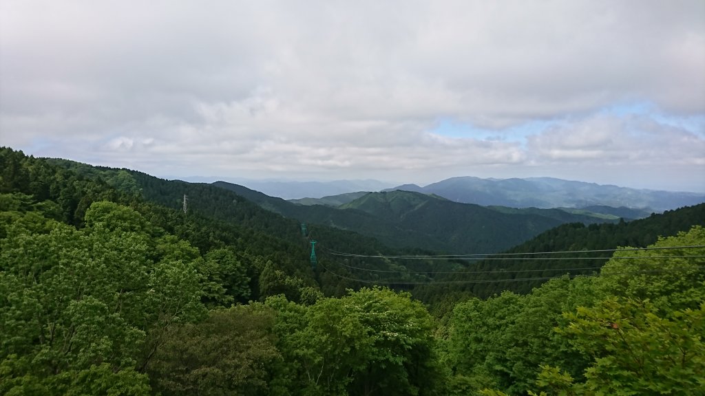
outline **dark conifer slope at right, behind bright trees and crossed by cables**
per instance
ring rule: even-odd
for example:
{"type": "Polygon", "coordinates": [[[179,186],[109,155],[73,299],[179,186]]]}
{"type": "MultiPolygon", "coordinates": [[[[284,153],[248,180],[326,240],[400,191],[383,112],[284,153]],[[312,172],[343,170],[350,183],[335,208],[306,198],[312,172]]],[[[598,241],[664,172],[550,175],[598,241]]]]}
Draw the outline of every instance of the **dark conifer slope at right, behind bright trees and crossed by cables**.
{"type": "Polygon", "coordinates": [[[417,287],[415,294],[424,301],[433,301],[443,294],[460,291],[479,297],[489,297],[503,290],[527,293],[544,283],[546,278],[599,272],[599,268],[612,256],[611,251],[536,253],[646,247],[659,237],[676,235],[694,225],[705,225],[705,204],[652,214],[630,222],[587,226],[581,223],[563,224],[508,249],[506,253],[513,254],[509,258],[496,256],[488,260],[466,261],[468,266],[461,272],[438,274],[434,280],[439,283],[417,287]]]}

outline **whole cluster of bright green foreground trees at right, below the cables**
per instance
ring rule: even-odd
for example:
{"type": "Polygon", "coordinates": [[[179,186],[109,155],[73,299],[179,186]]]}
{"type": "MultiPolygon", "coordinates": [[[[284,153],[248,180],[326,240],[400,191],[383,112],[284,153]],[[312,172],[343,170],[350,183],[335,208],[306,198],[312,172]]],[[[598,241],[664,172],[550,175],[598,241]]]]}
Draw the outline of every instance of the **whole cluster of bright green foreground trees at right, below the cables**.
{"type": "Polygon", "coordinates": [[[596,277],[455,305],[450,383],[510,395],[705,392],[704,242],[696,226],[651,250],[616,252],[596,277]]]}

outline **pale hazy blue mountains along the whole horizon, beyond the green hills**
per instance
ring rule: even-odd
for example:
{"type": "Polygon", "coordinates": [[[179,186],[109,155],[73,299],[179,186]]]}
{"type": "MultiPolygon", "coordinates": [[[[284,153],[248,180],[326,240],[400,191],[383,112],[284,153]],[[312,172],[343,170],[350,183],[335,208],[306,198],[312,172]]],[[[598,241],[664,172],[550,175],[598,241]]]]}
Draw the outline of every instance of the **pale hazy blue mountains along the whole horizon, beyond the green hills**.
{"type": "MultiPolygon", "coordinates": [[[[195,178],[189,178],[193,180],[195,178]]],[[[205,178],[203,178],[205,180],[205,178]]],[[[237,180],[237,179],[224,179],[237,180]]],[[[332,182],[296,182],[243,180],[238,184],[271,197],[288,199],[296,204],[329,204],[338,206],[352,201],[362,192],[412,191],[436,194],[453,202],[482,206],[513,208],[557,207],[584,209],[589,206],[611,206],[651,212],[676,209],[705,202],[705,194],[646,190],[616,185],[558,178],[448,178],[421,187],[407,184],[392,186],[378,180],[336,180],[332,182]]],[[[638,216],[630,216],[636,218],[638,216]]]]}

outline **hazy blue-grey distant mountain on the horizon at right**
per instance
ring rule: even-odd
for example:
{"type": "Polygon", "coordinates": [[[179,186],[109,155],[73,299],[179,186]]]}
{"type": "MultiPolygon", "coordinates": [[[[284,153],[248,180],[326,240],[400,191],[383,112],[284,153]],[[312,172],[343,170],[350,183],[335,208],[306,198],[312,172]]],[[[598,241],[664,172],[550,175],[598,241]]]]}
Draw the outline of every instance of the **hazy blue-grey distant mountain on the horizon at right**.
{"type": "Polygon", "coordinates": [[[425,187],[401,185],[385,191],[393,190],[438,194],[451,201],[466,204],[515,208],[611,206],[661,212],[705,202],[705,194],[694,192],[637,190],[556,178],[482,179],[466,176],[450,178],[425,187]]]}

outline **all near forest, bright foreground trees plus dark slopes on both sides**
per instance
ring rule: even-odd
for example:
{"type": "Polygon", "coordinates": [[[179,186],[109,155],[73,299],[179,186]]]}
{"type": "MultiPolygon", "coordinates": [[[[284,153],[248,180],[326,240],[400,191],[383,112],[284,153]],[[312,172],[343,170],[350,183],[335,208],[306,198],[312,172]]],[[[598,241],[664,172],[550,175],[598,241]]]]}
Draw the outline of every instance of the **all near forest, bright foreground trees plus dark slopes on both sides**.
{"type": "Polygon", "coordinates": [[[704,225],[700,204],[441,260],[0,148],[0,394],[702,395],[704,225]]]}

